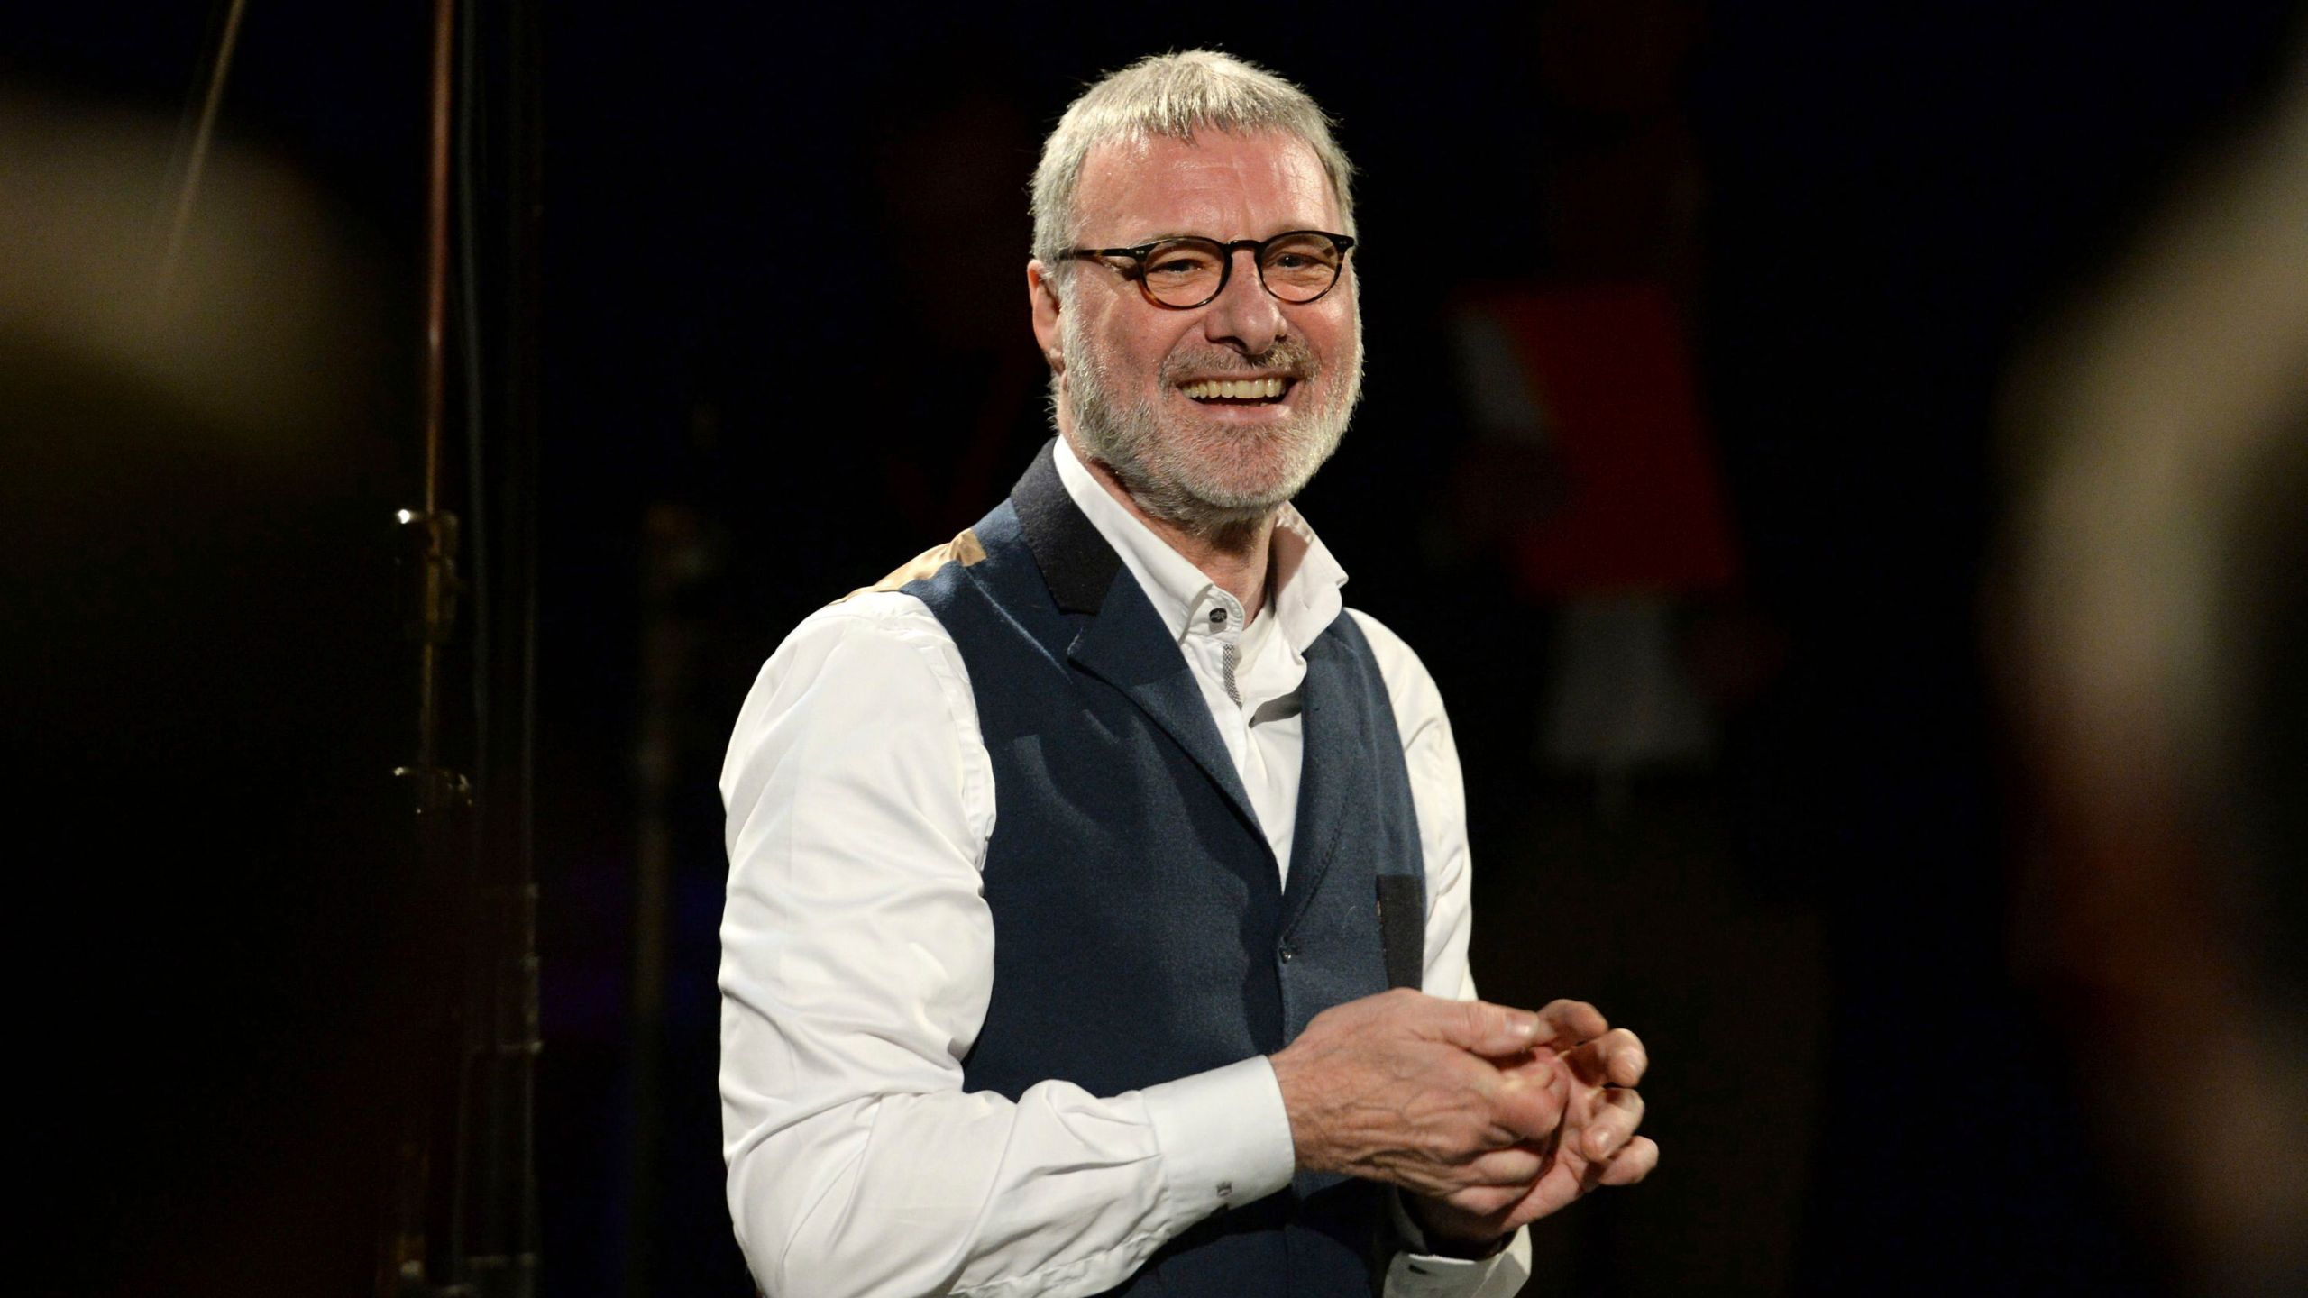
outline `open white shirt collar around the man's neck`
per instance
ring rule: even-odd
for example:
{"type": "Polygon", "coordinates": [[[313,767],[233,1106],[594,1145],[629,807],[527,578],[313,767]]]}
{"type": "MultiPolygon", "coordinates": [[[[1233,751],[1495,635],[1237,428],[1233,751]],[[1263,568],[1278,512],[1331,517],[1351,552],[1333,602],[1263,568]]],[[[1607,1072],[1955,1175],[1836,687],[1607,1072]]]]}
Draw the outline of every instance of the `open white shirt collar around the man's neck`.
{"type": "MultiPolygon", "coordinates": [[[[1066,485],[1082,517],[1099,529],[1099,536],[1115,547],[1115,554],[1138,577],[1147,600],[1179,640],[1207,619],[1212,607],[1221,607],[1242,628],[1242,603],[1219,589],[1184,554],[1170,550],[1161,536],[1117,501],[1103,483],[1076,457],[1073,446],[1057,439],[1057,478],[1066,485]]],[[[1274,517],[1274,540],[1269,559],[1267,605],[1260,617],[1274,617],[1276,631],[1290,644],[1292,656],[1302,656],[1318,635],[1329,631],[1346,607],[1339,587],[1346,584],[1346,568],[1332,557],[1322,538],[1316,536],[1306,517],[1295,506],[1283,506],[1274,517]]]]}

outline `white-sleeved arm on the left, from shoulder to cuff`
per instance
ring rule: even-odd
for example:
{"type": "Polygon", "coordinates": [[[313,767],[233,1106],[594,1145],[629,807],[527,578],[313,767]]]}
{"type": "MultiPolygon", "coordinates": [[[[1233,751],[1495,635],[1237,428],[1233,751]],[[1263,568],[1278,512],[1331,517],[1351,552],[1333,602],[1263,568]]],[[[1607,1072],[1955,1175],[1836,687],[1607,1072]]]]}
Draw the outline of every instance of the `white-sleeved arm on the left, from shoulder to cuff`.
{"type": "Polygon", "coordinates": [[[729,1213],[771,1296],[1096,1293],[1292,1171],[1265,1060],[1094,1097],[962,1092],[992,984],[992,771],[909,596],[805,621],[722,771],[729,1213]]]}

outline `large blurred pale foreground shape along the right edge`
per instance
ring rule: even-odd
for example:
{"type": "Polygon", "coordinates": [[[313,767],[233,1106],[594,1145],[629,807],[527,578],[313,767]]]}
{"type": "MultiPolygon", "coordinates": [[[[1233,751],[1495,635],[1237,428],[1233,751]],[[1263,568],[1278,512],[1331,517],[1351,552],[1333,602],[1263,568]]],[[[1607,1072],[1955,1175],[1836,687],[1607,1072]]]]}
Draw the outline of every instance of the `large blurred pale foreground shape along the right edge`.
{"type": "Polygon", "coordinates": [[[2308,79],[2010,409],[2019,958],[2188,1293],[2308,1291],[2308,79]]]}

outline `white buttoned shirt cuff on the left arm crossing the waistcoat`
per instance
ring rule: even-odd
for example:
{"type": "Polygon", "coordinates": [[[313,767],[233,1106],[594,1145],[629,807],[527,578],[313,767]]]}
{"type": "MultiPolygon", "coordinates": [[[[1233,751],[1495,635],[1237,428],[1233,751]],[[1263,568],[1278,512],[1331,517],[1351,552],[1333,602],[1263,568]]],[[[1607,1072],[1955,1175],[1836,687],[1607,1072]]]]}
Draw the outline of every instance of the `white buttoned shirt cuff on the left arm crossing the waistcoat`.
{"type": "Polygon", "coordinates": [[[1140,1095],[1161,1148],[1163,1196],[1177,1229],[1290,1185],[1297,1171],[1290,1113],[1265,1055],[1149,1086],[1140,1095]]]}

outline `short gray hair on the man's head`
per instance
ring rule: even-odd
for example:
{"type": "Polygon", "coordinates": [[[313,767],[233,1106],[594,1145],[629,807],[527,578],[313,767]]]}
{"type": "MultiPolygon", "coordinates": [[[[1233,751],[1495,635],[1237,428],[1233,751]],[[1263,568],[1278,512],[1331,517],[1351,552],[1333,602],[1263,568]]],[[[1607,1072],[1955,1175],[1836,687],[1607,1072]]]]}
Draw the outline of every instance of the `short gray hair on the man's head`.
{"type": "Polygon", "coordinates": [[[1329,136],[1329,115],[1304,90],[1230,53],[1191,49],[1156,53],[1082,90],[1041,146],[1034,169],[1034,256],[1064,275],[1080,229],[1073,208],[1089,150],[1108,141],[1175,139],[1193,132],[1281,132],[1313,150],[1339,199],[1339,219],[1355,233],[1355,166],[1329,136]]]}

